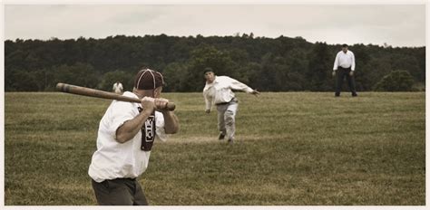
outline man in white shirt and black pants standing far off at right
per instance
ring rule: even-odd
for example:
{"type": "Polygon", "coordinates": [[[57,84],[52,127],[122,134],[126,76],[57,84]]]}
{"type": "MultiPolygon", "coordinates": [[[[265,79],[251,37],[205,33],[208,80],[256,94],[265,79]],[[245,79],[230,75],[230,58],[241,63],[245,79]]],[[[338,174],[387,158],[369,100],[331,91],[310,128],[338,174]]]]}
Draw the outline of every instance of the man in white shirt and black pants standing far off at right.
{"type": "Polygon", "coordinates": [[[337,52],[335,64],[333,66],[333,76],[337,74],[336,93],[335,96],[340,96],[340,89],[344,78],[347,78],[347,85],[353,97],[357,96],[356,82],[354,81],[354,71],[356,70],[356,59],[354,53],[347,50],[347,44],[342,44],[342,51],[337,52]]]}

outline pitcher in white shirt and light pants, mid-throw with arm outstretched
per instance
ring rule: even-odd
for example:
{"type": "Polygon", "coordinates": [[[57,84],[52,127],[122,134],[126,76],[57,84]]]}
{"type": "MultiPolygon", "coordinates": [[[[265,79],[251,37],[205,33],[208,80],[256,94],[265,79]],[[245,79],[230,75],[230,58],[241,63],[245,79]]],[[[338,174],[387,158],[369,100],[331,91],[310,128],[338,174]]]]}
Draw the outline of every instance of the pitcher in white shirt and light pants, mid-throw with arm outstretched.
{"type": "Polygon", "coordinates": [[[211,68],[204,70],[206,85],[203,89],[203,97],[206,103],[206,113],[210,113],[212,104],[218,110],[218,129],[222,140],[227,136],[229,143],[233,143],[235,133],[235,116],[238,110],[238,102],[231,90],[245,91],[255,96],[259,91],[252,90],[246,84],[236,81],[228,76],[216,76],[211,68]]]}

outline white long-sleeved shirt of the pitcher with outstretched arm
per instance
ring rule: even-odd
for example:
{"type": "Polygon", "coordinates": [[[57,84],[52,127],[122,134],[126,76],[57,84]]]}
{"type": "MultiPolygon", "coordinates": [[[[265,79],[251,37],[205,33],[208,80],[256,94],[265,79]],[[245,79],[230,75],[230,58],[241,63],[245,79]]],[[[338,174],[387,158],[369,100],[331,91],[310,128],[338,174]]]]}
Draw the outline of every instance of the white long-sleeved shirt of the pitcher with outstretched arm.
{"type": "Polygon", "coordinates": [[[210,110],[213,104],[230,102],[234,98],[234,92],[231,90],[248,93],[254,91],[248,85],[228,76],[215,76],[215,80],[212,83],[206,82],[203,89],[206,110],[210,110]]]}

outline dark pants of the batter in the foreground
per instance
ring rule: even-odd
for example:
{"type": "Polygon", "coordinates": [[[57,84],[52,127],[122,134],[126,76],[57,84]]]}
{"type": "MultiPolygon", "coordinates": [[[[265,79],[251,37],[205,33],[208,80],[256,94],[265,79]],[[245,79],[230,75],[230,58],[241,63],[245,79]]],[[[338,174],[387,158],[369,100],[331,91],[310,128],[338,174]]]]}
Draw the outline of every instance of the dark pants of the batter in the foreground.
{"type": "Polygon", "coordinates": [[[148,205],[135,178],[116,178],[101,183],[92,179],[92,184],[99,205],[148,205]]]}

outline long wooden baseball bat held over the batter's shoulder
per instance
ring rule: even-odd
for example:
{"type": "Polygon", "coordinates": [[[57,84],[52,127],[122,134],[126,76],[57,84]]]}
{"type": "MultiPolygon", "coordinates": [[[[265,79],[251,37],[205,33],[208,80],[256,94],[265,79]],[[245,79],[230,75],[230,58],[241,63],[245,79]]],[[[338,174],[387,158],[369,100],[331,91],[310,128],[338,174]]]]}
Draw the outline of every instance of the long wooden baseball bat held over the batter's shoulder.
{"type": "MultiPolygon", "coordinates": [[[[101,98],[101,99],[108,99],[108,100],[121,100],[121,101],[127,101],[127,102],[134,102],[134,103],[141,103],[140,99],[131,98],[127,96],[118,95],[113,92],[108,91],[100,91],[95,90],[91,88],[84,88],[80,86],[75,86],[71,84],[65,84],[65,83],[57,83],[56,85],[57,91],[67,92],[67,93],[73,93],[77,95],[82,96],[89,96],[89,97],[95,97],[95,98],[101,98]]],[[[175,110],[176,106],[174,103],[169,102],[167,104],[167,110],[175,110]]]]}

